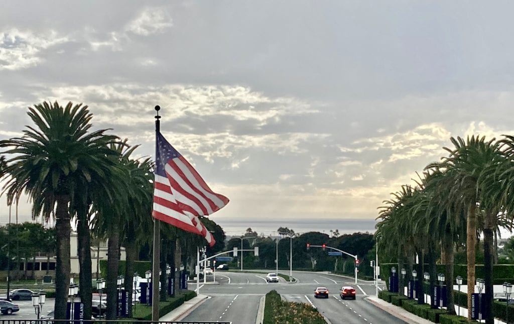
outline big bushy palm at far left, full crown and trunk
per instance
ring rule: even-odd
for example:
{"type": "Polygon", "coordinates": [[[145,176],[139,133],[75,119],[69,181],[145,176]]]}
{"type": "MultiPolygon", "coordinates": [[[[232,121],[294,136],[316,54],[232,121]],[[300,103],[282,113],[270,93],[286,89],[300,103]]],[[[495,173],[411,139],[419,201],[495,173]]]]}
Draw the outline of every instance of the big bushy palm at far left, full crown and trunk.
{"type": "Polygon", "coordinates": [[[25,191],[33,201],[33,217],[43,214],[56,217],[57,264],[55,318],[66,319],[66,302],[70,278],[69,204],[79,185],[92,176],[104,176],[98,157],[106,154],[107,145],[116,140],[106,130],[89,132],[93,115],[87,106],[65,107],[56,101],[29,107],[35,127],[28,126],[23,137],[0,141],[14,156],[2,171],[9,194],[25,191]],[[7,177],[6,174],[10,174],[7,177]]]}

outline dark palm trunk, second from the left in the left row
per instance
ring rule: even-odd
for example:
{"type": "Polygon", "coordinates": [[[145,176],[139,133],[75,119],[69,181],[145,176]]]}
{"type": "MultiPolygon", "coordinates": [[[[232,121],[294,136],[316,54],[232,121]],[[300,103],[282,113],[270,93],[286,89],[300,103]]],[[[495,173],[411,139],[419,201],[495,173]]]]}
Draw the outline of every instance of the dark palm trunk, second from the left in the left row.
{"type": "Polygon", "coordinates": [[[91,232],[87,219],[87,207],[77,212],[77,255],[79,256],[79,294],[84,304],[84,318],[91,318],[93,311],[93,273],[91,267],[91,232]]]}

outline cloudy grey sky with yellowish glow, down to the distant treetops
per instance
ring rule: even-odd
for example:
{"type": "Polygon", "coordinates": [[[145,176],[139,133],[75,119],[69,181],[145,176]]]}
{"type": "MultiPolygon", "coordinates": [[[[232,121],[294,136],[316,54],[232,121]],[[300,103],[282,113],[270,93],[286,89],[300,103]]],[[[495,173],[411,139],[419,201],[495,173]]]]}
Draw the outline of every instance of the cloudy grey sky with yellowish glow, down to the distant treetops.
{"type": "Polygon", "coordinates": [[[210,217],[231,233],[373,231],[377,207],[450,137],[514,133],[508,1],[0,7],[0,139],[31,124],[27,107],[72,101],[153,156],[160,105],[163,135],[229,197],[210,217]]]}

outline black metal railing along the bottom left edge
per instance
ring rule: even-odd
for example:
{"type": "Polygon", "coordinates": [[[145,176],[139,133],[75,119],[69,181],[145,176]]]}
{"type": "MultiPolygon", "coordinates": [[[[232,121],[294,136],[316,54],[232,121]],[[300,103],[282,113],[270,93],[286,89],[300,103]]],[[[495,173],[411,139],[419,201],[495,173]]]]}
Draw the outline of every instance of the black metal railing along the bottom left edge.
{"type": "Polygon", "coordinates": [[[146,321],[146,320],[69,320],[69,319],[3,319],[0,324],[232,324],[222,321],[146,321]]]}

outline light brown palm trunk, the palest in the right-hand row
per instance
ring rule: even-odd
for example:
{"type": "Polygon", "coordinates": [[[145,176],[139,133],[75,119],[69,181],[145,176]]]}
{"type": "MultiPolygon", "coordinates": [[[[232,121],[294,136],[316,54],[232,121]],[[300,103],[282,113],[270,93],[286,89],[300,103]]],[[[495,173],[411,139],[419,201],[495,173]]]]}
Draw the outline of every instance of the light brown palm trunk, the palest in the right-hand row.
{"type": "Polygon", "coordinates": [[[468,205],[466,227],[466,257],[468,261],[468,319],[471,319],[471,295],[475,290],[475,249],[476,249],[476,204],[468,205]]]}

